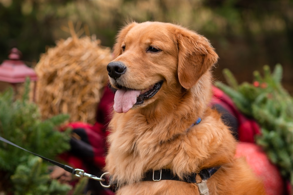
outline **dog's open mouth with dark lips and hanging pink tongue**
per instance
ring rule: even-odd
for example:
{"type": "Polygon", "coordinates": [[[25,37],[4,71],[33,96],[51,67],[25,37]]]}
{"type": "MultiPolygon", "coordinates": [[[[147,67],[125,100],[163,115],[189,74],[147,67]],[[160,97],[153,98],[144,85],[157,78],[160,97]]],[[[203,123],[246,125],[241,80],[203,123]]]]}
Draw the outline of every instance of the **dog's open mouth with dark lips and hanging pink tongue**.
{"type": "Polygon", "coordinates": [[[152,98],[162,87],[163,81],[157,82],[151,85],[147,89],[134,90],[123,86],[115,86],[118,89],[114,89],[114,110],[117,113],[126,113],[134,105],[144,103],[145,100],[152,98]]]}

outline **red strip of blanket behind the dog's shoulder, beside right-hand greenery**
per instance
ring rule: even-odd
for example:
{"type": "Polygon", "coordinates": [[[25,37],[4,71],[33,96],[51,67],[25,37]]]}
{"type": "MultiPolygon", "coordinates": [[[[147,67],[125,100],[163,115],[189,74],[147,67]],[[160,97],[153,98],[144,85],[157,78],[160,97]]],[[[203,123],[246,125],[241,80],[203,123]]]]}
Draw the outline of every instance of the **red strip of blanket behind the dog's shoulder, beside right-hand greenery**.
{"type": "Polygon", "coordinates": [[[255,142],[254,136],[256,134],[260,134],[260,127],[258,126],[258,124],[253,119],[245,117],[240,111],[238,111],[232,99],[216,87],[213,87],[212,104],[220,104],[237,118],[239,123],[239,141],[250,143],[255,142]]]}

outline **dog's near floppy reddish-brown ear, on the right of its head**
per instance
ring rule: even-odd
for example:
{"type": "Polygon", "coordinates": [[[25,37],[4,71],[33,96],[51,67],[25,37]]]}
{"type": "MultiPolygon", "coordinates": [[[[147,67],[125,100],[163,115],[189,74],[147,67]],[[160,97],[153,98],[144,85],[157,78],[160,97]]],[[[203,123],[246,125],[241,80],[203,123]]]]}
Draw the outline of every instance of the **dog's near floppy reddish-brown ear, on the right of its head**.
{"type": "Polygon", "coordinates": [[[176,39],[179,82],[190,89],[217,62],[218,55],[205,37],[193,31],[178,29],[176,39]]]}

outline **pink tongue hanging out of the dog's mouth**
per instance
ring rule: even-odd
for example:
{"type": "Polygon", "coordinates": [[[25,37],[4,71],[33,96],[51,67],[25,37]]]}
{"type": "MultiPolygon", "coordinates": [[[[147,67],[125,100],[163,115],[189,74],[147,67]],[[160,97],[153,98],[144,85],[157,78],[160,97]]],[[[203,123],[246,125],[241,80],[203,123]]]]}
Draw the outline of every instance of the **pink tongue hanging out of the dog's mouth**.
{"type": "Polygon", "coordinates": [[[136,103],[140,90],[124,90],[118,89],[114,96],[114,110],[117,113],[126,113],[136,103]]]}

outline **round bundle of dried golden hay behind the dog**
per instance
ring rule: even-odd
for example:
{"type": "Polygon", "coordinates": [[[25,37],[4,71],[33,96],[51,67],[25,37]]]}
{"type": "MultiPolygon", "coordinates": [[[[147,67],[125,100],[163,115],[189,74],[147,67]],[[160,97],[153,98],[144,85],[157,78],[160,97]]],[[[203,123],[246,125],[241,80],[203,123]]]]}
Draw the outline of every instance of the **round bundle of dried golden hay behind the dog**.
{"type": "Polygon", "coordinates": [[[93,123],[111,51],[100,46],[100,40],[71,35],[42,54],[35,67],[36,99],[43,118],[69,113],[70,121],[93,123]]]}

